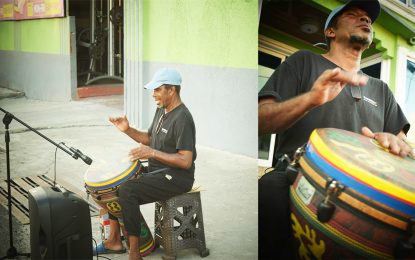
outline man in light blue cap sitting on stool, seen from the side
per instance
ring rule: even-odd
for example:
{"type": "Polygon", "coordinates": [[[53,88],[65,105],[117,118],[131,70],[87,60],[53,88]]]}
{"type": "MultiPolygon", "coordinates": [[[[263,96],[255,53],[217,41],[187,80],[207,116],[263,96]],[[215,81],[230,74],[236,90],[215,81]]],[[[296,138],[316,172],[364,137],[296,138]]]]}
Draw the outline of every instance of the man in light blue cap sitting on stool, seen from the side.
{"type": "Polygon", "coordinates": [[[190,111],[180,98],[181,82],[177,70],[163,68],[145,85],[146,89],[153,90],[158,106],[148,132],[130,127],[126,116],[109,119],[138,143],[129,153],[131,161],[148,159],[150,173],[167,169],[121,184],[119,201],[129,240],[130,260],[141,259],[140,205],[185,193],[191,190],[194,182],[196,129],[190,111]]]}

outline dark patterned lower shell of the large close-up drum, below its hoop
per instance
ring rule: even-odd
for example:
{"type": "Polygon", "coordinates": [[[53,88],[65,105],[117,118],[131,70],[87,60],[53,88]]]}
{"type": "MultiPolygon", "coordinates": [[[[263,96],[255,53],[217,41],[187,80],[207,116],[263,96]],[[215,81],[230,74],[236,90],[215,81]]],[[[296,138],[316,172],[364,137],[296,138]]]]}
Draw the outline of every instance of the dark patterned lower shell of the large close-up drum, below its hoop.
{"type": "Polygon", "coordinates": [[[291,214],[295,248],[301,258],[356,259],[393,258],[394,249],[405,233],[395,227],[352,209],[338,200],[332,218],[321,223],[317,207],[324,200],[324,191],[300,173],[290,188],[291,214]],[[307,204],[299,193],[305,183],[315,188],[307,204]],[[301,187],[301,188],[300,188],[301,187]],[[308,256],[308,257],[305,257],[308,256]]]}

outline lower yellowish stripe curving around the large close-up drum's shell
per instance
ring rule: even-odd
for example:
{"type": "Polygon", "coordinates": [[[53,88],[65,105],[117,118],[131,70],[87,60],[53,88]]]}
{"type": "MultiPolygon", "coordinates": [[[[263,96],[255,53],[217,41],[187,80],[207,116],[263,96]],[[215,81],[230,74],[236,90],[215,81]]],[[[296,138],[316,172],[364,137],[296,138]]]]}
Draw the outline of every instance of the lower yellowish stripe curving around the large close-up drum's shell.
{"type": "MultiPolygon", "coordinates": [[[[371,247],[368,247],[362,243],[359,243],[356,240],[353,240],[352,238],[346,236],[345,234],[343,234],[342,232],[340,232],[339,230],[331,227],[329,224],[327,223],[321,223],[320,221],[318,221],[316,219],[315,214],[308,208],[306,207],[303,202],[301,201],[301,199],[298,197],[297,193],[295,192],[295,189],[293,186],[291,186],[291,196],[293,198],[293,200],[295,200],[295,204],[300,207],[301,211],[306,214],[308,217],[308,219],[312,220],[312,224],[316,226],[317,229],[321,230],[321,232],[323,232],[322,230],[325,230],[326,233],[330,234],[331,239],[333,239],[332,237],[337,237],[337,238],[341,238],[341,240],[347,244],[348,248],[357,248],[358,250],[361,250],[363,252],[369,253],[373,256],[375,256],[376,258],[382,258],[382,259],[390,259],[392,256],[389,254],[386,254],[384,252],[375,250],[371,247]]],[[[291,213],[293,214],[293,213],[291,213]]],[[[329,236],[329,237],[330,237],[329,236]]],[[[335,240],[335,239],[333,239],[335,240]]]]}

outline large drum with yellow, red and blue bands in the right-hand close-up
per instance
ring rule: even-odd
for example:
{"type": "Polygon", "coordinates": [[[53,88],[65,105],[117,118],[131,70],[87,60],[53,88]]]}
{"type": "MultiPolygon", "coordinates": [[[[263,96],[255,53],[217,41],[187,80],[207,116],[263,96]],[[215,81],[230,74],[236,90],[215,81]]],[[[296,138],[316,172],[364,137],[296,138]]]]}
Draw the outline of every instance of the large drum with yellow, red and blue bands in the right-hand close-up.
{"type": "Polygon", "coordinates": [[[290,188],[303,259],[415,258],[415,161],[345,130],[315,130],[290,188]]]}

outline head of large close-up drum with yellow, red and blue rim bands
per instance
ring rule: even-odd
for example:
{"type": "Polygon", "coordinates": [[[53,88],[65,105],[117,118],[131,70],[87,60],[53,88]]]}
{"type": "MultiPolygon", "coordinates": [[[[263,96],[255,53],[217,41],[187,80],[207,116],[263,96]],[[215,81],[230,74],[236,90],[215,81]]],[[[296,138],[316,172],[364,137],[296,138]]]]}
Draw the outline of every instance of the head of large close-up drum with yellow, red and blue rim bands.
{"type": "Polygon", "coordinates": [[[334,128],[316,129],[305,157],[346,187],[415,216],[415,160],[391,154],[374,139],[334,128]]]}

